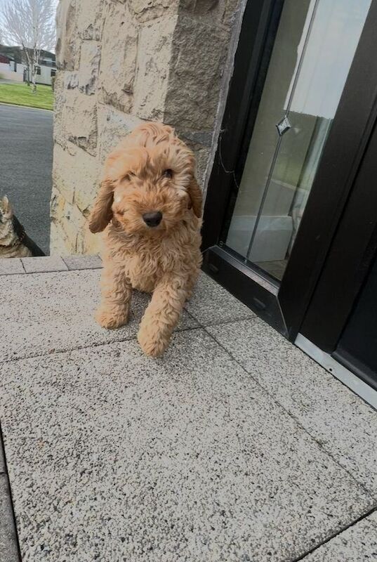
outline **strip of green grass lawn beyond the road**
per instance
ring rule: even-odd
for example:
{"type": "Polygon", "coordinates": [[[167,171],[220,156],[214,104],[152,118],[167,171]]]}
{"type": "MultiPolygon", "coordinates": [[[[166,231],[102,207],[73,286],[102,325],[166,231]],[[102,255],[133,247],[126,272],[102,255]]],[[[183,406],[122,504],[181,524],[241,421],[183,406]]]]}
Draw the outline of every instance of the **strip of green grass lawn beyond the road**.
{"type": "Polygon", "coordinates": [[[1,84],[0,103],[13,103],[14,105],[27,105],[39,107],[43,110],[53,109],[53,91],[51,86],[37,84],[37,93],[27,84],[1,84]]]}

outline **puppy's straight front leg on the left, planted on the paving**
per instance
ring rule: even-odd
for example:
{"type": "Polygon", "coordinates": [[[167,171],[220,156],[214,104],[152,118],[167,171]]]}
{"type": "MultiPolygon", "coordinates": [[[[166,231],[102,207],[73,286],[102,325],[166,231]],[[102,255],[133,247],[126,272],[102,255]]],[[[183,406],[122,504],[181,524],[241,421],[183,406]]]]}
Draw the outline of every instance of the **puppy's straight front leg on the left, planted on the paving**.
{"type": "Polygon", "coordinates": [[[101,277],[101,303],[95,320],[104,328],[119,328],[127,323],[132,287],[124,267],[105,261],[101,277]]]}

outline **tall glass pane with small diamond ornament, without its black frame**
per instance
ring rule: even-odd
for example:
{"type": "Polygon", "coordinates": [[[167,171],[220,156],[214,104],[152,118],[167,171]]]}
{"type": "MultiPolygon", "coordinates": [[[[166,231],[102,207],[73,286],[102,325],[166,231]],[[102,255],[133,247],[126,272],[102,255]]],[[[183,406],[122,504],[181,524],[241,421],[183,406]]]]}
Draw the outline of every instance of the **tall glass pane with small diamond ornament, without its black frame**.
{"type": "Polygon", "coordinates": [[[371,0],[286,0],[226,244],[281,279],[371,0]]]}

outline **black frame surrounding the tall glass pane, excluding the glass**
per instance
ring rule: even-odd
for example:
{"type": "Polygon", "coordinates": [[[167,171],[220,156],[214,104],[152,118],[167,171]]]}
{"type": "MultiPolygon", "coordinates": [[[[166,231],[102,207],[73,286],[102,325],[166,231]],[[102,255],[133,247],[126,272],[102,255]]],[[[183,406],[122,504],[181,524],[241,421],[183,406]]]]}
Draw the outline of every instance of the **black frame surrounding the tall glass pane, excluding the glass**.
{"type": "MultiPolygon", "coordinates": [[[[204,208],[204,270],[292,341],[324,268],[377,117],[377,0],[340,98],[281,284],[226,248],[227,228],[284,0],[249,0],[204,208]],[[319,220],[320,217],[320,220],[319,220]]],[[[368,237],[368,233],[360,232],[368,237]]],[[[365,243],[368,241],[364,240],[365,243]]],[[[360,243],[364,243],[360,240],[360,243]]],[[[349,306],[350,303],[348,303],[349,306]]]]}

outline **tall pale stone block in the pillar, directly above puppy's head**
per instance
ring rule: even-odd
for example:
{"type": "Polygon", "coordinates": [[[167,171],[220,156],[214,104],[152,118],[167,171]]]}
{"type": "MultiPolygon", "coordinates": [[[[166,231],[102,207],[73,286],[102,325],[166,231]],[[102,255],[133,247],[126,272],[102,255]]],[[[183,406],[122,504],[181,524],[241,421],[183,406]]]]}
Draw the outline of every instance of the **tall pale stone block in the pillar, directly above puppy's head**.
{"type": "Polygon", "coordinates": [[[133,112],[142,119],[164,120],[171,42],[176,23],[177,17],[172,16],[148,22],[140,32],[133,112]]]}

